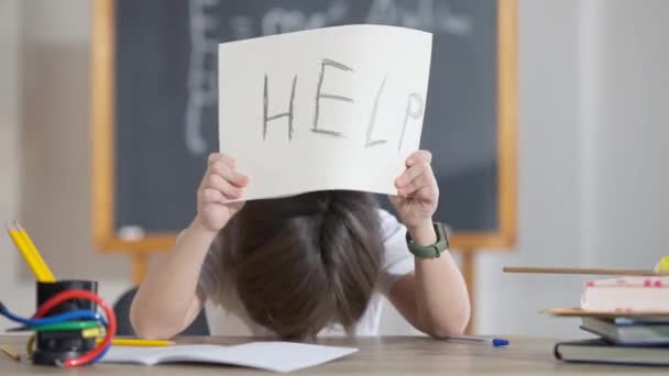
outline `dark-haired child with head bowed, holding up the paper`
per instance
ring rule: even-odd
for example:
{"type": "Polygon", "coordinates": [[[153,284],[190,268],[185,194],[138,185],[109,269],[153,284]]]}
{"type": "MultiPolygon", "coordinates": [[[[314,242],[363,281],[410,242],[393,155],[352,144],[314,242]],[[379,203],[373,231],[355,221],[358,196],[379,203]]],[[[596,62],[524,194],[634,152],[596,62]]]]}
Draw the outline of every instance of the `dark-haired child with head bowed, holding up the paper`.
{"type": "Polygon", "coordinates": [[[383,294],[416,329],[462,333],[469,297],[448,250],[439,257],[409,252],[440,237],[430,162],[429,152],[412,154],[395,181],[401,196],[391,201],[402,225],[363,192],[228,202],[253,181],[230,157],[210,155],[197,215],[132,302],[135,332],[172,338],[207,303],[213,335],[233,333],[240,319],[253,334],[283,339],[375,335],[383,294]]]}

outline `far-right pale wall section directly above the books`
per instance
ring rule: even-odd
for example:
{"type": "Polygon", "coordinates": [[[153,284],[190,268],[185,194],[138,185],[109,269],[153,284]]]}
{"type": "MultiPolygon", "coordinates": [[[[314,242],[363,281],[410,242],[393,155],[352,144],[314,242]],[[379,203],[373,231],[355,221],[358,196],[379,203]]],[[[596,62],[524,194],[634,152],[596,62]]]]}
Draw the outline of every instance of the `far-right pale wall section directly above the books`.
{"type": "Polygon", "coordinates": [[[669,2],[601,3],[586,259],[648,267],[669,255],[669,2]]]}

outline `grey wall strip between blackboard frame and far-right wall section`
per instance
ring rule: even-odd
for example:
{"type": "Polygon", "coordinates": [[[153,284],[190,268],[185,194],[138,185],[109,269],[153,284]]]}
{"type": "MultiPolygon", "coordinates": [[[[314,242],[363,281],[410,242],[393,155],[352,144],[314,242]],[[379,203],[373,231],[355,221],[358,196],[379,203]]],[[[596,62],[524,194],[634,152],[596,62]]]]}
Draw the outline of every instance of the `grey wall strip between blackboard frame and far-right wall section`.
{"type": "Polygon", "coordinates": [[[538,311],[578,303],[580,278],[504,275],[502,267],[580,264],[580,3],[519,2],[518,244],[480,257],[483,333],[575,332],[538,311]]]}

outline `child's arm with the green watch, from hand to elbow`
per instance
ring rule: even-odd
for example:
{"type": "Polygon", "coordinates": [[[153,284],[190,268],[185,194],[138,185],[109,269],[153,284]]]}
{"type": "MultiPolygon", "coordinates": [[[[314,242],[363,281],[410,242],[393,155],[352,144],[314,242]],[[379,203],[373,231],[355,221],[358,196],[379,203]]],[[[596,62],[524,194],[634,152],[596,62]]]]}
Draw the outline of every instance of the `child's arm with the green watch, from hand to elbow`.
{"type": "MultiPolygon", "coordinates": [[[[437,241],[432,214],[439,200],[439,187],[430,162],[429,152],[410,155],[407,169],[396,181],[402,196],[391,197],[412,240],[418,245],[437,241]]],[[[448,252],[438,258],[416,257],[415,273],[396,280],[388,298],[416,329],[432,336],[461,334],[469,322],[467,286],[448,252]]]]}

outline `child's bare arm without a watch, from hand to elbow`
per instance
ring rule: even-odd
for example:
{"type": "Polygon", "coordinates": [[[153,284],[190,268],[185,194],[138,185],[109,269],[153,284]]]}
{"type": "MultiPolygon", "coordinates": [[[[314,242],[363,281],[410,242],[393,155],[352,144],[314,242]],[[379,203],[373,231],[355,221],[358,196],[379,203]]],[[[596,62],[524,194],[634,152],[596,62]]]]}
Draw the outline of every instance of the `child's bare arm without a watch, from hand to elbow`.
{"type": "Polygon", "coordinates": [[[221,154],[209,157],[197,193],[198,213],[174,248],[140,285],[130,320],[141,338],[172,338],[195,320],[205,297],[197,290],[205,256],[217,233],[243,207],[226,203],[241,197],[248,178],[234,170],[234,162],[221,154]]]}

